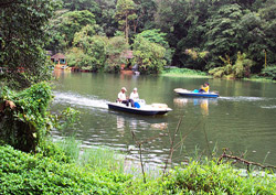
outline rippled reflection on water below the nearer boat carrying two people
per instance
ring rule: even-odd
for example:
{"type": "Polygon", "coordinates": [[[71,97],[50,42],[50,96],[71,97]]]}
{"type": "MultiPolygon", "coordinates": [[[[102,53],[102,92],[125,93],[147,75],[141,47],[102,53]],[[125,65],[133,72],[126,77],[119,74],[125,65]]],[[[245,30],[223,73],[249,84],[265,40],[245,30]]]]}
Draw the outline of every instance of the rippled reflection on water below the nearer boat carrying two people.
{"type": "Polygon", "coordinates": [[[125,113],[117,113],[117,130],[120,136],[125,134],[126,128],[131,130],[166,130],[167,119],[163,117],[129,117],[125,113]]]}

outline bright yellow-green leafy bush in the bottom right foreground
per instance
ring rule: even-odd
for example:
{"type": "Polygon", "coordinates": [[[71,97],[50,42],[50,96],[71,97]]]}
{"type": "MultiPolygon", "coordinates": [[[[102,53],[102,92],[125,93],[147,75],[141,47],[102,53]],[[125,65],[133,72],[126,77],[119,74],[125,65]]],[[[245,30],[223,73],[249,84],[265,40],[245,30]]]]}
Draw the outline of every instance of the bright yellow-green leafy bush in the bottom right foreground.
{"type": "Polygon", "coordinates": [[[191,161],[171,170],[155,181],[134,182],[126,194],[274,194],[275,177],[240,176],[240,171],[230,164],[217,165],[215,161],[199,163],[191,161]],[[141,193],[142,192],[142,193],[141,193]]]}

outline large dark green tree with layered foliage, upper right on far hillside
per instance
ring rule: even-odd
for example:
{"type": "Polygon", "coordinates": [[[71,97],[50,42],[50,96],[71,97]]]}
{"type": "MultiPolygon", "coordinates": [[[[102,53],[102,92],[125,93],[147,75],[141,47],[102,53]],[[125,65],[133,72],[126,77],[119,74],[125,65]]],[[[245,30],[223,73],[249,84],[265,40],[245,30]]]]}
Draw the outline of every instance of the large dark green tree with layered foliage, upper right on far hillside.
{"type": "Polygon", "coordinates": [[[233,57],[241,51],[240,41],[241,25],[240,21],[243,17],[243,10],[238,4],[226,4],[221,7],[206,21],[206,41],[204,50],[209,51],[211,58],[208,68],[215,67],[221,64],[219,56],[227,54],[233,57]]]}

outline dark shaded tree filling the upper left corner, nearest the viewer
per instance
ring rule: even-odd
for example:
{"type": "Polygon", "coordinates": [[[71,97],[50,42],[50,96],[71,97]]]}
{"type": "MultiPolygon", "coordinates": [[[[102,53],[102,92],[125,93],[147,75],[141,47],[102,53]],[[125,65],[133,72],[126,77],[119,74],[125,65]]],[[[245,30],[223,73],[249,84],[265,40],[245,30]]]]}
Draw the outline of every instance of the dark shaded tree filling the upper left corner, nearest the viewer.
{"type": "Polygon", "coordinates": [[[47,21],[54,12],[53,0],[4,0],[0,3],[1,82],[28,87],[50,77],[46,55],[47,21]]]}

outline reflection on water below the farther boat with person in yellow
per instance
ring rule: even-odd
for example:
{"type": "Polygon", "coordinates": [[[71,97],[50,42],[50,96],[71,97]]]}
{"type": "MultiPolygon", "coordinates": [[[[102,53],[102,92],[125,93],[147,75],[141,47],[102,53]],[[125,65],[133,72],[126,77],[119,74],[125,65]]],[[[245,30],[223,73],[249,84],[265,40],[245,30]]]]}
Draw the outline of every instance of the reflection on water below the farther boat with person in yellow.
{"type": "Polygon", "coordinates": [[[209,115],[209,105],[210,104],[217,104],[216,98],[174,98],[173,104],[177,107],[185,107],[189,104],[193,104],[193,106],[200,106],[202,115],[206,116],[209,115]]]}

